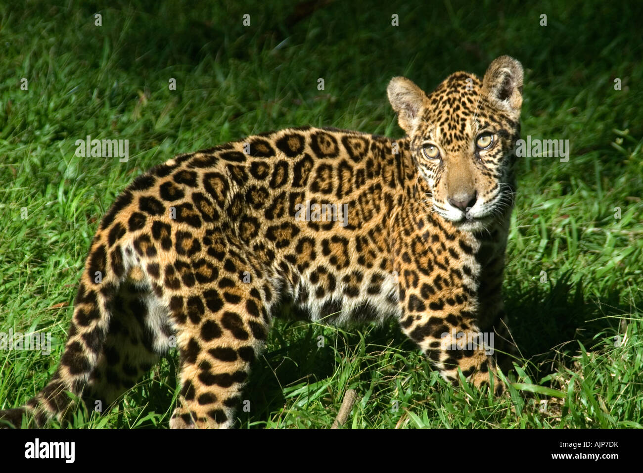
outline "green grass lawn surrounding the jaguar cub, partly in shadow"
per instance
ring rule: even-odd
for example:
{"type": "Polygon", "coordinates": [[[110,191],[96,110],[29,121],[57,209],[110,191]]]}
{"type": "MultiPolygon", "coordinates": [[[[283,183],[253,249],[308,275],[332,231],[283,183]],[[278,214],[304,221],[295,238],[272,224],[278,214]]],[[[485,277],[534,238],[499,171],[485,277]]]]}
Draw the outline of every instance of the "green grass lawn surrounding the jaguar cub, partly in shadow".
{"type": "MultiPolygon", "coordinates": [[[[285,0],[50,4],[0,6],[0,331],[53,337],[49,355],[0,351],[0,408],[28,400],[55,370],[98,219],[135,176],[287,126],[401,136],[385,94],[392,76],[430,90],[509,54],[525,66],[523,138],[572,147],[567,163],[521,161],[504,286],[521,349],[511,400],[446,384],[394,322],[277,320],[239,424],[330,427],[353,388],[351,427],[642,427],[641,6],[336,2],[293,19],[285,0]],[[129,162],[77,158],[87,134],[129,139],[129,162]]],[[[118,409],[78,411],[75,427],[166,428],[176,371],[170,353],[118,409]]]]}

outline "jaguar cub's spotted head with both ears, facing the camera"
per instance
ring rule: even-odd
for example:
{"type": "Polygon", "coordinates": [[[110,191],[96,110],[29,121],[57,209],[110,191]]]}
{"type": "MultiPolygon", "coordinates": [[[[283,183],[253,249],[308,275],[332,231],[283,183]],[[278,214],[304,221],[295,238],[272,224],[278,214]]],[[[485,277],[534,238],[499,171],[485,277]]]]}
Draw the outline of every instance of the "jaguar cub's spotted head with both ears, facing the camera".
{"type": "Polygon", "coordinates": [[[428,95],[405,77],[388,84],[433,210],[462,230],[511,210],[522,87],[523,68],[509,56],[491,62],[482,80],[457,72],[428,95]]]}

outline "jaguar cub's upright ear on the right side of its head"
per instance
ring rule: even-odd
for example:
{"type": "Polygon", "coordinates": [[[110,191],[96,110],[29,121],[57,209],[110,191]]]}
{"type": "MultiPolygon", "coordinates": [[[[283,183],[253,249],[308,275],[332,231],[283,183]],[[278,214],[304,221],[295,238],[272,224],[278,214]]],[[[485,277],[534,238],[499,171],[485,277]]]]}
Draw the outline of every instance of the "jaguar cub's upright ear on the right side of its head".
{"type": "Polygon", "coordinates": [[[500,56],[489,64],[485,72],[482,93],[498,108],[518,118],[522,106],[522,83],[522,64],[512,57],[500,56]]]}

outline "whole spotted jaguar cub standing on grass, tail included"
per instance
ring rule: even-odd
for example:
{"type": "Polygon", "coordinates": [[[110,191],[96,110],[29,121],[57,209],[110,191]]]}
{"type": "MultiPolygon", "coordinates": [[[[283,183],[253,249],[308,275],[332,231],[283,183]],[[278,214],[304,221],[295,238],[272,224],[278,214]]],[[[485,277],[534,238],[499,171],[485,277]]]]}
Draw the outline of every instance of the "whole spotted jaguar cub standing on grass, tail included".
{"type": "Polygon", "coordinates": [[[503,316],[522,86],[507,56],[428,95],[394,77],[404,138],[284,129],[139,176],[91,243],[51,382],[0,418],[62,419],[69,393],[106,407],[176,343],[170,426],[230,427],[284,302],[337,324],[394,317],[444,378],[502,393],[480,335],[503,316]]]}

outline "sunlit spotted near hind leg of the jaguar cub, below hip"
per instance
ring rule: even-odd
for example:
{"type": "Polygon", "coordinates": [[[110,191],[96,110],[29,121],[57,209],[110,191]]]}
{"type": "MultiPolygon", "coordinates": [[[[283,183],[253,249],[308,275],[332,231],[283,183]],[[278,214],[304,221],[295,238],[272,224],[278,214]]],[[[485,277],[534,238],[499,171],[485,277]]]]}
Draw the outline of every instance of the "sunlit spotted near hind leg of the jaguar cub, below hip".
{"type": "Polygon", "coordinates": [[[268,283],[222,277],[216,285],[172,296],[181,363],[172,429],[231,427],[251,362],[264,349],[274,293],[268,283]]]}

